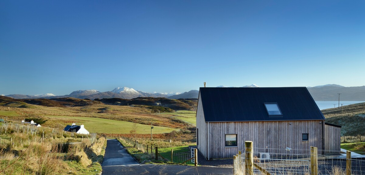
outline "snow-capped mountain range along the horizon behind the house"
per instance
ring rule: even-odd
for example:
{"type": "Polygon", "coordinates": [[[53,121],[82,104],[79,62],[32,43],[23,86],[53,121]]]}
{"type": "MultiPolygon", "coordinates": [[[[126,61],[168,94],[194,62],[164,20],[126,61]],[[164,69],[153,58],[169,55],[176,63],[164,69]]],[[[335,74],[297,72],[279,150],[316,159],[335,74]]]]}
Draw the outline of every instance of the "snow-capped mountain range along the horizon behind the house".
{"type": "MultiPolygon", "coordinates": [[[[227,86],[220,85],[218,87],[225,88],[227,86]]],[[[242,87],[259,87],[258,85],[251,84],[242,87]]],[[[345,87],[338,84],[326,84],[318,85],[315,87],[307,87],[308,91],[316,101],[337,101],[338,94],[342,101],[365,101],[365,86],[360,87],[345,87]]],[[[41,95],[21,95],[11,94],[5,95],[15,99],[51,99],[51,98],[78,98],[78,99],[103,99],[103,98],[121,98],[121,99],[133,99],[138,97],[154,97],[154,98],[169,98],[169,99],[192,99],[198,98],[199,91],[191,90],[184,93],[158,93],[158,92],[143,92],[136,91],[133,88],[117,87],[112,91],[100,92],[97,90],[78,90],[73,91],[69,95],[55,96],[53,94],[41,94],[41,95]]]]}

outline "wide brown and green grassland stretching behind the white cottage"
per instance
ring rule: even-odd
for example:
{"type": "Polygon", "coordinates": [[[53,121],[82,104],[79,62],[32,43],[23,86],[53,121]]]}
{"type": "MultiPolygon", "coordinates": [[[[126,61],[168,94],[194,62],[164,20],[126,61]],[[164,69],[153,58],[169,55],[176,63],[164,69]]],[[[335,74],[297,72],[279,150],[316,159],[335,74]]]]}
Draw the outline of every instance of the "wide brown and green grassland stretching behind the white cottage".
{"type": "Polygon", "coordinates": [[[154,114],[145,108],[106,104],[83,107],[28,105],[30,108],[0,106],[0,118],[19,122],[29,115],[42,116],[48,120],[42,124],[44,127],[64,128],[67,124],[75,122],[78,125],[83,123],[89,132],[104,134],[129,134],[133,123],[137,123],[137,134],[149,134],[150,123],[154,126],[154,134],[178,131],[185,128],[186,123],[195,124],[194,111],[154,114]],[[174,119],[180,119],[186,123],[174,119]]]}

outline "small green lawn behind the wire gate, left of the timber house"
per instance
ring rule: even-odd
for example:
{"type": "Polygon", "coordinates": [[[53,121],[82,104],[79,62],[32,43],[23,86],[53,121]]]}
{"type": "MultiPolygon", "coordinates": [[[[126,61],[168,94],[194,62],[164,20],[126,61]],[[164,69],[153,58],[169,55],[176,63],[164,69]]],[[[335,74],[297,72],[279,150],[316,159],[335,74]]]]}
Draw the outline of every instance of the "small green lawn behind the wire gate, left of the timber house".
{"type": "MultiPolygon", "coordinates": [[[[158,148],[158,153],[160,153],[160,155],[162,155],[164,158],[171,161],[171,149],[173,149],[173,152],[174,152],[174,155],[173,155],[174,163],[183,163],[185,161],[185,159],[183,159],[183,157],[185,157],[186,160],[191,158],[190,157],[191,152],[190,152],[188,146],[180,146],[180,147],[173,147],[173,148],[158,148]],[[181,153],[180,157],[177,156],[177,155],[179,155],[179,153],[181,153]]],[[[194,164],[194,163],[192,163],[189,160],[187,162],[187,164],[194,164]]]]}

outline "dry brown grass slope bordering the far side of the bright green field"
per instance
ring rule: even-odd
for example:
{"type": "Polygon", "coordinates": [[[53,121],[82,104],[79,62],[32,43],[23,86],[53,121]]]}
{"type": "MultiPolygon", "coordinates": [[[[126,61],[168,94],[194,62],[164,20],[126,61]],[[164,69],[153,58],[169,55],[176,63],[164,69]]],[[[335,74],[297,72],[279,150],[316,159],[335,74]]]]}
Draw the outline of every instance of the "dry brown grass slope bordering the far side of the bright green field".
{"type": "Polygon", "coordinates": [[[57,118],[53,116],[72,117],[93,117],[104,118],[140,124],[154,123],[154,126],[164,126],[170,128],[184,128],[186,124],[174,122],[169,116],[151,113],[151,110],[140,107],[113,106],[106,104],[96,104],[83,107],[45,107],[31,105],[32,108],[12,108],[0,106],[0,111],[16,111],[19,116],[7,116],[9,119],[20,121],[27,115],[43,116],[48,121],[42,126],[52,128],[64,128],[66,124],[73,123],[72,119],[57,118]],[[107,109],[107,110],[105,110],[107,109]]]}

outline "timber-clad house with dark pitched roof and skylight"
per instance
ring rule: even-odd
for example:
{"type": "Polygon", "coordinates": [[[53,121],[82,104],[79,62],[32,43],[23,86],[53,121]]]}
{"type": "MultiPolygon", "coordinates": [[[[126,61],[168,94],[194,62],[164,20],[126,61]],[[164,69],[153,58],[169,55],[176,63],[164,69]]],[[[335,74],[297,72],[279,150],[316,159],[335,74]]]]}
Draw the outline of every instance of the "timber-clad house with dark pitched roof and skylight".
{"type": "Polygon", "coordinates": [[[340,151],[339,126],[324,120],[306,87],[204,87],[196,111],[197,147],[208,160],[233,158],[248,140],[277,153],[287,147],[307,153],[301,150],[310,146],[340,151]]]}

